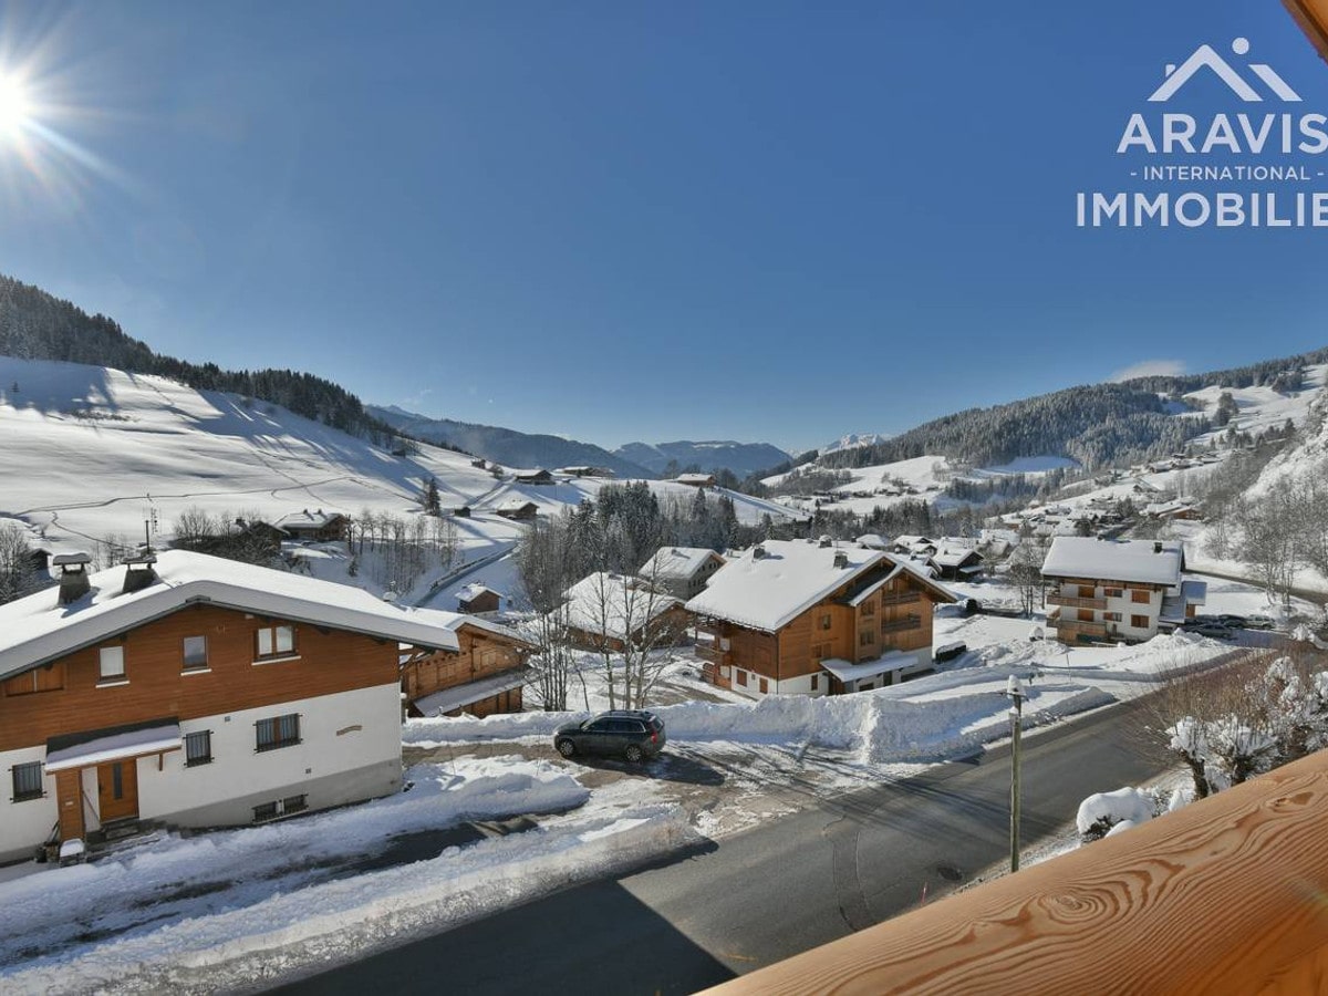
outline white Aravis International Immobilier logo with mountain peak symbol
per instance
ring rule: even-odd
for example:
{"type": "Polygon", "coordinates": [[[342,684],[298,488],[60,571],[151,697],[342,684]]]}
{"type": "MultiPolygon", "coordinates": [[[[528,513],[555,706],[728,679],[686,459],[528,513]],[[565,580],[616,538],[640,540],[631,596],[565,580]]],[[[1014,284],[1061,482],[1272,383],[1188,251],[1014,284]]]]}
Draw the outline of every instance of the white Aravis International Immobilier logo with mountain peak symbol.
{"type": "Polygon", "coordinates": [[[1078,227],[1328,230],[1328,117],[1304,108],[1267,62],[1247,60],[1248,39],[1235,39],[1231,53],[1238,58],[1199,45],[1166,66],[1150,106],[1130,114],[1116,143],[1126,189],[1080,191],[1078,227]],[[1211,85],[1193,89],[1211,81],[1224,88],[1218,109],[1186,113],[1199,97],[1214,100],[1211,85]]]}

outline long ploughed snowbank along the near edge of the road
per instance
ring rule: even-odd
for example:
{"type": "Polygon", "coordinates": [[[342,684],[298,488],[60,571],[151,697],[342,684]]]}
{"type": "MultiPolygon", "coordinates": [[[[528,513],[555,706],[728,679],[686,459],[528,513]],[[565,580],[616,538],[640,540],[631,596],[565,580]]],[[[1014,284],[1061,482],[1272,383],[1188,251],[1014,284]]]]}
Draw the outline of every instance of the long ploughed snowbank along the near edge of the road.
{"type": "Polygon", "coordinates": [[[5,992],[212,993],[325,971],[675,851],[695,838],[661,803],[449,849],[258,906],[178,920],[3,977],[5,992]],[[533,841],[531,835],[539,834],[533,841]]]}

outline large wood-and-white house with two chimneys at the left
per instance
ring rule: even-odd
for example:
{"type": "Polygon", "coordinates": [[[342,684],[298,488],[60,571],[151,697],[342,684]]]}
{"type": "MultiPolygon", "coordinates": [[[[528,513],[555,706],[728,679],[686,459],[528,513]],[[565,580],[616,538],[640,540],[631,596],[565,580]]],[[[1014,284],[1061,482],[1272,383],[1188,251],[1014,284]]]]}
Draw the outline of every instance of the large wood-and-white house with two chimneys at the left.
{"type": "Polygon", "coordinates": [[[450,614],[205,554],[54,563],[0,606],[0,862],[398,791],[402,655],[461,649],[450,614]]]}

